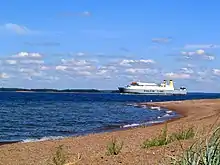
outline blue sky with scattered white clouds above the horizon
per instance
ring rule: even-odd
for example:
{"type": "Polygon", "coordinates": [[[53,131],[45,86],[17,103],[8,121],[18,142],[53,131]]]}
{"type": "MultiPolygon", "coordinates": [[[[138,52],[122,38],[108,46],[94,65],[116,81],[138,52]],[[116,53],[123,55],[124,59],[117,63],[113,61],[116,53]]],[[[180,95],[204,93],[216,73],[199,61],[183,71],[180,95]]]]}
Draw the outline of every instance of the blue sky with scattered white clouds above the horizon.
{"type": "Polygon", "coordinates": [[[117,89],[132,81],[220,92],[217,0],[3,0],[0,83],[117,89]]]}

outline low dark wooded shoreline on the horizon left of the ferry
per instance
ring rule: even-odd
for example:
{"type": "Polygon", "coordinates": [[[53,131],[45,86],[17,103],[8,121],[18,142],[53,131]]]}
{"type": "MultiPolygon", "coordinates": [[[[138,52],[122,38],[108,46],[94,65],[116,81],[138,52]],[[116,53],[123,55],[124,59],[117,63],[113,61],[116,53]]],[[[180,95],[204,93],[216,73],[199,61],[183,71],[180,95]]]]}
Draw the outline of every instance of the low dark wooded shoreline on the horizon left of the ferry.
{"type": "Polygon", "coordinates": [[[54,93],[119,93],[118,90],[98,89],[25,89],[25,88],[0,88],[0,92],[54,92],[54,93]]]}

